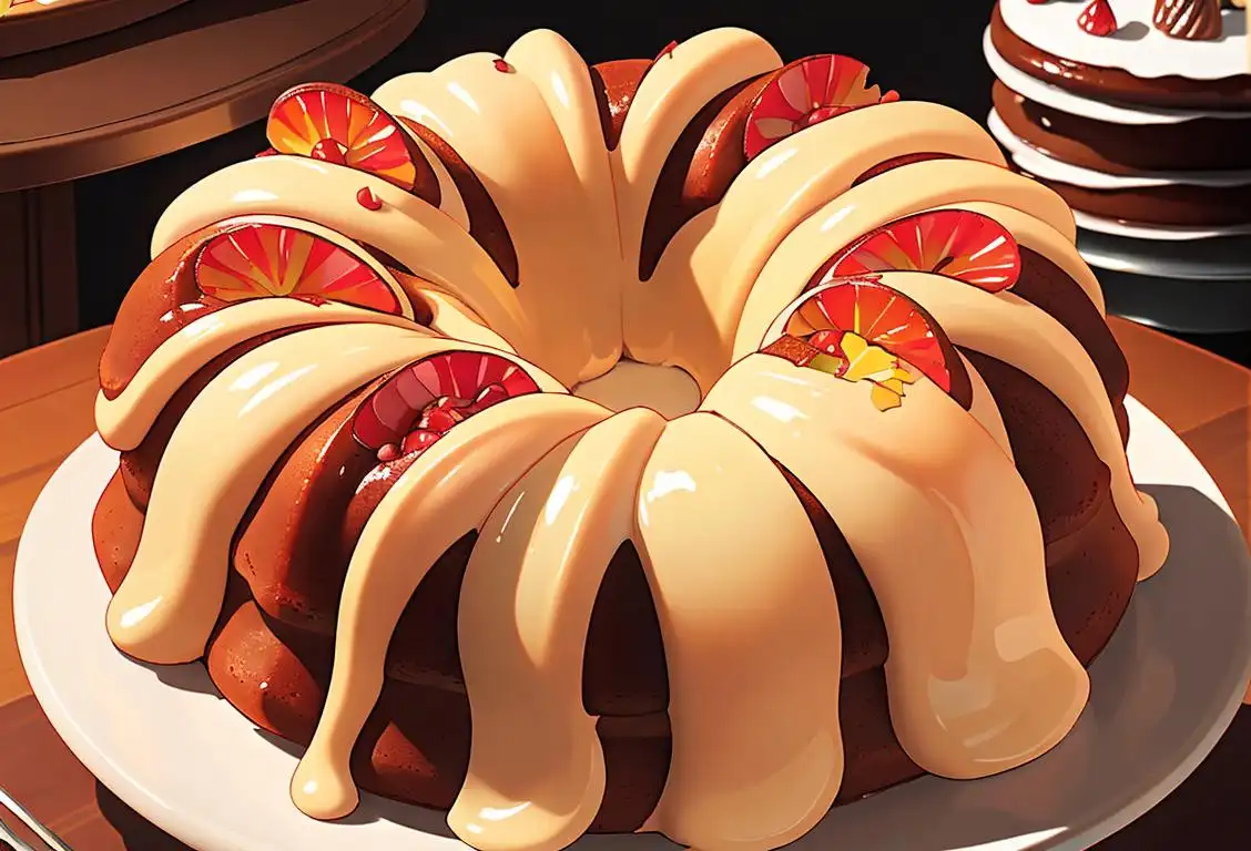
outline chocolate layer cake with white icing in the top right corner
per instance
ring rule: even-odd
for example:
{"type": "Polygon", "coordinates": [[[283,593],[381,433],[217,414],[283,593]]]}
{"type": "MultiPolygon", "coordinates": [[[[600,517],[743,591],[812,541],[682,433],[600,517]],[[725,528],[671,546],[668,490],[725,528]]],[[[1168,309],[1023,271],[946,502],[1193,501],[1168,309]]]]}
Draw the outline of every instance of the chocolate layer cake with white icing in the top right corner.
{"type": "Polygon", "coordinates": [[[1073,207],[1092,265],[1251,279],[1245,0],[1000,0],[985,50],[990,129],[1073,207]]]}

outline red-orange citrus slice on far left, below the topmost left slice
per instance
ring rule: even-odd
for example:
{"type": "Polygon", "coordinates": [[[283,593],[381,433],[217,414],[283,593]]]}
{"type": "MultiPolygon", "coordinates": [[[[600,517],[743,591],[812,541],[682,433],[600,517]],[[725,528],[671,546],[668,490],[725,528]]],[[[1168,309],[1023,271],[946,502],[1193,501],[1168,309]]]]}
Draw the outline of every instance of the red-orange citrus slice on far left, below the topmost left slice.
{"type": "Polygon", "coordinates": [[[220,301],[270,296],[338,301],[405,316],[407,299],[350,251],[303,230],[248,224],[205,242],[195,259],[200,291],[220,301]]]}

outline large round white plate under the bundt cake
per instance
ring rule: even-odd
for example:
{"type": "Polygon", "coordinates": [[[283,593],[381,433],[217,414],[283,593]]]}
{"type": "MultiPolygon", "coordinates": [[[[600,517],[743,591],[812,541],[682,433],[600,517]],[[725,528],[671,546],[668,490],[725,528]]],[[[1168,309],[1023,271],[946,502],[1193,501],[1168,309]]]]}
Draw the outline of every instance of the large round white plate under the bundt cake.
{"type": "MultiPolygon", "coordinates": [[[[1207,472],[1128,404],[1130,456],[1172,535],[1092,669],[1073,732],[1016,771],[923,777],[834,810],[794,851],[1077,851],[1155,806],[1211,751],[1251,675],[1251,557],[1207,472]]],[[[83,764],[143,816],[201,851],[452,851],[439,814],[365,795],[348,824],[300,815],[296,757],[219,699],[200,665],[128,661],[104,627],[90,516],[116,456],[91,437],[49,481],[18,550],[18,640],[35,696],[83,764]]],[[[578,851],[656,851],[656,836],[578,851]]]]}

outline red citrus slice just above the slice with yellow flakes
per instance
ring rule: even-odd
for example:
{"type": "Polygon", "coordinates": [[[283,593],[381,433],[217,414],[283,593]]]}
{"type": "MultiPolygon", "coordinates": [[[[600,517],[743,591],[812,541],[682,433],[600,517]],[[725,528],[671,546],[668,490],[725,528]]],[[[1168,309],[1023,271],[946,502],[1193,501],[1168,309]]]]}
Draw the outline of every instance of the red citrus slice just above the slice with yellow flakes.
{"type": "Polygon", "coordinates": [[[938,272],[1000,292],[1021,277],[1021,249],[1003,225],[978,212],[918,212],[852,242],[814,276],[813,286],[891,270],[938,272]]]}

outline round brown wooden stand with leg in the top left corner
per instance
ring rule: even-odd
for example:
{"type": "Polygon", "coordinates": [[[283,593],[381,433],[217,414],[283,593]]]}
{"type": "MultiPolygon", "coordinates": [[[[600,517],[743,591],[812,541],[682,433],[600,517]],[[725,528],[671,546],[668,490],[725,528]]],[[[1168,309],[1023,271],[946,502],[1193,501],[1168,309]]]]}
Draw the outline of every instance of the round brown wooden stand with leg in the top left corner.
{"type": "Polygon", "coordinates": [[[0,357],[79,329],[80,274],[90,280],[75,260],[75,180],[251,124],[295,84],[345,82],[394,50],[427,9],[427,0],[53,2],[64,9],[19,15],[23,4],[0,17],[0,357]],[[4,34],[23,17],[70,26],[81,16],[85,26],[89,14],[123,7],[149,14],[4,57],[4,34]]]}

